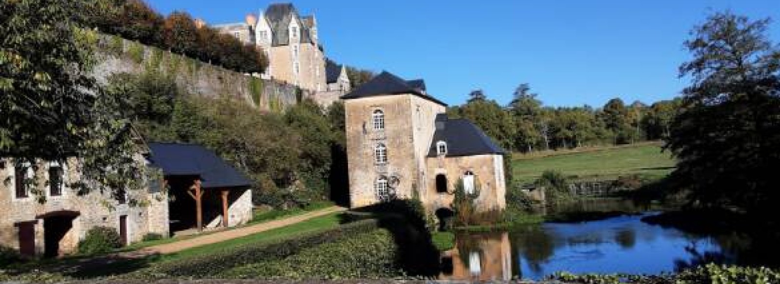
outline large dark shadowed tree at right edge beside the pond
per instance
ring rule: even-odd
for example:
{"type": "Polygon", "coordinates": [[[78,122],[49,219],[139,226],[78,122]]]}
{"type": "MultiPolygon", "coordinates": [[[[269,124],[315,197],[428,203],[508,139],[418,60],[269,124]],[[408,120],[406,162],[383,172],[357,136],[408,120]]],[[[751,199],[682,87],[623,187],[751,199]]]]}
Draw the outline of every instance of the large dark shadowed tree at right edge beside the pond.
{"type": "Polygon", "coordinates": [[[717,12],[685,42],[693,59],[680,76],[692,84],[665,147],[694,204],[777,211],[780,51],[768,40],[769,23],[717,12]]]}

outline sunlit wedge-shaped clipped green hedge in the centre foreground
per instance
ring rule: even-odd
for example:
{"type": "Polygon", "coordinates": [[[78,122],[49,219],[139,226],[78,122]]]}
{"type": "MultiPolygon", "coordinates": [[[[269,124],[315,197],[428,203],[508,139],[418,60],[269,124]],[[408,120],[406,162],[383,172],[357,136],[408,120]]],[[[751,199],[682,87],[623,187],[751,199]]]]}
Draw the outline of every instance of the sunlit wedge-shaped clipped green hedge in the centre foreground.
{"type": "Polygon", "coordinates": [[[261,261],[222,273],[251,279],[376,279],[403,275],[398,247],[385,229],[324,243],[282,260],[261,261]]]}

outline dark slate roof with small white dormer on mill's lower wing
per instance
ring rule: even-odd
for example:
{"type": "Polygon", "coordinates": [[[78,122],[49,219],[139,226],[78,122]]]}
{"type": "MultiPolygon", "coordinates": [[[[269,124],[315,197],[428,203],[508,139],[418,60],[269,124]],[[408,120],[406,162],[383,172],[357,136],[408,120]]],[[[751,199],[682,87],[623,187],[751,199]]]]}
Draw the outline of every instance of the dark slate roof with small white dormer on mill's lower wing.
{"type": "Polygon", "coordinates": [[[470,156],[474,154],[503,154],[504,149],[498,147],[493,140],[485,135],[479,127],[468,119],[448,119],[447,115],[436,115],[436,131],[428,150],[428,157],[436,157],[436,143],[447,143],[446,157],[470,156]]]}

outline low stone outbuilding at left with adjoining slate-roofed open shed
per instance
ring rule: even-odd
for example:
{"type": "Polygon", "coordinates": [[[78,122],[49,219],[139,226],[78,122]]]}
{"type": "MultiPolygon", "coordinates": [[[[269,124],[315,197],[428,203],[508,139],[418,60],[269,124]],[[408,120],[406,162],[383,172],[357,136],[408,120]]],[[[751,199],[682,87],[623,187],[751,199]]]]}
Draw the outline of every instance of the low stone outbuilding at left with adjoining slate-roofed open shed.
{"type": "Polygon", "coordinates": [[[136,161],[162,169],[165,178],[150,177],[144,189],[118,193],[70,188],[81,179],[76,158],[36,166],[0,159],[0,245],[25,257],[61,257],[73,253],[95,226],[115,228],[129,244],[147,233],[190,229],[201,218],[205,227],[250,220],[250,183],[213,152],[195,145],[143,146],[136,161]],[[172,166],[181,163],[188,166],[172,166]],[[199,193],[200,201],[187,192],[199,193]]]}

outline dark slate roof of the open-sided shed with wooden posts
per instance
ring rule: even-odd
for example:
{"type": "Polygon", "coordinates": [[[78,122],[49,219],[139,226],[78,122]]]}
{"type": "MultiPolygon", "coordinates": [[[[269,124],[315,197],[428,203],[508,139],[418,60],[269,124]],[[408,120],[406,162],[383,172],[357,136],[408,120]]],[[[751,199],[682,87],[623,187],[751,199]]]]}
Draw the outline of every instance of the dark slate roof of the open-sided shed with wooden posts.
{"type": "Polygon", "coordinates": [[[195,144],[150,143],[151,164],[165,176],[200,176],[203,188],[250,186],[252,181],[213,151],[195,144]]]}

